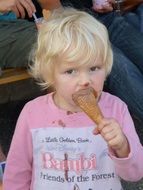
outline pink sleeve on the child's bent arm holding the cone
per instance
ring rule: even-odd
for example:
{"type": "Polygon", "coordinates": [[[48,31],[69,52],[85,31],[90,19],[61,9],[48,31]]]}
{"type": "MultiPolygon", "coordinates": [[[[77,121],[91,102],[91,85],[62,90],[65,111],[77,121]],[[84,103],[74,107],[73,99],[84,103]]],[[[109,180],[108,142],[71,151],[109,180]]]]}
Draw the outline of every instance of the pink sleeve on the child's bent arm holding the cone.
{"type": "MultiPolygon", "coordinates": [[[[116,158],[111,156],[115,163],[117,174],[127,181],[138,181],[143,177],[143,147],[135,131],[135,127],[126,106],[122,110],[123,131],[130,145],[130,154],[127,158],[116,158]]],[[[143,127],[143,126],[140,126],[143,127]]]]}

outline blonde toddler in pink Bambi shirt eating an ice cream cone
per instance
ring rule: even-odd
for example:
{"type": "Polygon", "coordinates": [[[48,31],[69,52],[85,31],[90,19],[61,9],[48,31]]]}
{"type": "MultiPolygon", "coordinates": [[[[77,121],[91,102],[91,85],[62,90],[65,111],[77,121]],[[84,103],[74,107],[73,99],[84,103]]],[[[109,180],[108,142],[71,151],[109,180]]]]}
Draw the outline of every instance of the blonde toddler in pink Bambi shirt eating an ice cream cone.
{"type": "Polygon", "coordinates": [[[39,29],[31,71],[54,92],[23,108],[4,190],[122,190],[120,178],[143,177],[143,147],[127,106],[103,92],[112,62],[104,25],[72,8],[51,12],[39,29]],[[104,116],[99,125],[72,99],[88,88],[97,92],[104,116]]]}

